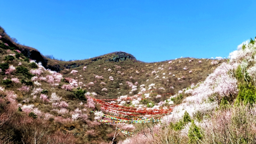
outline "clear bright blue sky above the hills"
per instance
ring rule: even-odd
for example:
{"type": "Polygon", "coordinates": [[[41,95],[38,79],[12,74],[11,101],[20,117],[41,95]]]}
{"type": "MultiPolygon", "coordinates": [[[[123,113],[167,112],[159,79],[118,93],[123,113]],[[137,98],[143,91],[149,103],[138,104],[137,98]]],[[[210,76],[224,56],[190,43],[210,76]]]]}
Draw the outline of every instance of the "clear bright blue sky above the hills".
{"type": "Polygon", "coordinates": [[[227,57],[256,36],[256,0],[0,0],[0,26],[64,60],[227,57]]]}

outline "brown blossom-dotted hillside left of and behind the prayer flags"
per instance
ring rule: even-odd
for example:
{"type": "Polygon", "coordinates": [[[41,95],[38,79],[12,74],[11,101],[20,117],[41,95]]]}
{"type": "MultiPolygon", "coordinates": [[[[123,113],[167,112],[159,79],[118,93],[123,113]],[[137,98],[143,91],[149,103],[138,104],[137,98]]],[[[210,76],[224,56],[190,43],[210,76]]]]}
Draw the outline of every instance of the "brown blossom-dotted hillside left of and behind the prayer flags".
{"type": "MultiPolygon", "coordinates": [[[[32,143],[35,132],[40,130],[44,134],[36,135],[38,143],[48,142],[49,137],[57,141],[61,136],[68,136],[66,143],[110,142],[115,127],[95,121],[90,110],[101,108],[98,104],[92,108],[86,93],[97,99],[111,99],[144,94],[152,89],[146,100],[138,104],[131,104],[131,100],[122,105],[173,106],[190,95],[173,99],[170,96],[203,82],[220,64],[227,62],[225,59],[178,58],[146,63],[126,52],[61,61],[16,43],[3,28],[0,36],[0,113],[7,116],[3,117],[6,121],[0,123],[0,143],[7,139],[32,143]]],[[[120,134],[115,142],[124,139],[120,134]]]]}

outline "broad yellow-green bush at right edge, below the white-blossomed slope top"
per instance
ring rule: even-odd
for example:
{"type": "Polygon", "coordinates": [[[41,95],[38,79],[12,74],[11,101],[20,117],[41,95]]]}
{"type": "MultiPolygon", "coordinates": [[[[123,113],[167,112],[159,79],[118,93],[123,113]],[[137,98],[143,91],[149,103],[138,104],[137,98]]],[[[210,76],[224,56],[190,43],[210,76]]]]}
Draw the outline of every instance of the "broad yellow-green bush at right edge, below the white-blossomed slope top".
{"type": "Polygon", "coordinates": [[[256,102],[256,89],[251,83],[249,85],[240,85],[238,89],[239,92],[235,104],[244,102],[244,104],[249,103],[252,105],[256,102]]]}

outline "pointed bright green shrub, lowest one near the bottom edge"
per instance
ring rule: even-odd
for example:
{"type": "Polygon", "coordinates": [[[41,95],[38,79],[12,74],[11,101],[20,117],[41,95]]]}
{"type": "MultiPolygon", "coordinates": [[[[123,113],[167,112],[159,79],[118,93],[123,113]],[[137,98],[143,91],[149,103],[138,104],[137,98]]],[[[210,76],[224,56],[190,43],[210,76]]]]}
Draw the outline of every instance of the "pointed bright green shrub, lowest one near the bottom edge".
{"type": "Polygon", "coordinates": [[[201,129],[196,126],[194,123],[194,120],[192,120],[191,125],[188,130],[188,142],[190,144],[198,143],[198,140],[201,140],[203,138],[201,129]]]}

